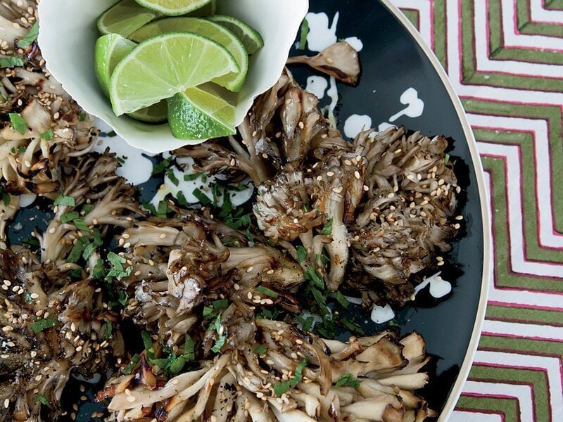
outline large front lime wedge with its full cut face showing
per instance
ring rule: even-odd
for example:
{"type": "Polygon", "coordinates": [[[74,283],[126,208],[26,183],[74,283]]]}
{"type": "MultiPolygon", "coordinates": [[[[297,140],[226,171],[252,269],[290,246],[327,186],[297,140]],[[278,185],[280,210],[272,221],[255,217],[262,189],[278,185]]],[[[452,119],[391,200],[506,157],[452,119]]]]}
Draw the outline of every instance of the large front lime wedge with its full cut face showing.
{"type": "Polygon", "coordinates": [[[113,71],[113,111],[132,113],[238,70],[232,54],[212,39],[190,32],[158,35],[132,49],[113,71]]]}

